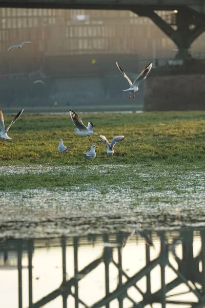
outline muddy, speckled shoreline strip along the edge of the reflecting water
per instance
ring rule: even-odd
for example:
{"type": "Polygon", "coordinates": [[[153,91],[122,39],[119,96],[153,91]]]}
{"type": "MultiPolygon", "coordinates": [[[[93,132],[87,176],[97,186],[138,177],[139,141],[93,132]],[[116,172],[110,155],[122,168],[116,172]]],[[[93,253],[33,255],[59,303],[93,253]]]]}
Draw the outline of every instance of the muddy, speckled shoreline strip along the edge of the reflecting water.
{"type": "MultiPolygon", "coordinates": [[[[40,213],[38,213],[39,215],[40,213]]],[[[44,213],[45,214],[45,213],[44,213]]],[[[19,216],[16,220],[0,216],[0,239],[26,239],[26,238],[55,238],[60,236],[88,235],[88,234],[114,234],[116,232],[130,232],[130,224],[135,221],[141,222],[144,229],[176,229],[180,227],[205,226],[205,215],[194,215],[187,211],[185,217],[182,213],[156,215],[149,212],[133,213],[133,217],[124,215],[103,215],[99,216],[64,216],[40,218],[19,216]],[[136,219],[136,220],[135,220],[136,219]]]]}

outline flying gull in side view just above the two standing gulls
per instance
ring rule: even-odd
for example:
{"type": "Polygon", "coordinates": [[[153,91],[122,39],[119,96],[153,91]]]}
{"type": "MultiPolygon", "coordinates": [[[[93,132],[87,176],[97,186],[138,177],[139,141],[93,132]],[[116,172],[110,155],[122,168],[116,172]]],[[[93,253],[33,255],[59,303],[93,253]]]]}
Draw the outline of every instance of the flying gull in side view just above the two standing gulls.
{"type": "Polygon", "coordinates": [[[77,126],[77,128],[75,128],[73,131],[76,131],[77,134],[81,137],[88,136],[89,140],[92,141],[90,135],[91,134],[97,135],[97,133],[93,131],[93,123],[89,121],[88,126],[86,127],[83,124],[83,121],[80,119],[79,115],[72,110],[70,110],[70,116],[73,121],[73,124],[77,126]]]}

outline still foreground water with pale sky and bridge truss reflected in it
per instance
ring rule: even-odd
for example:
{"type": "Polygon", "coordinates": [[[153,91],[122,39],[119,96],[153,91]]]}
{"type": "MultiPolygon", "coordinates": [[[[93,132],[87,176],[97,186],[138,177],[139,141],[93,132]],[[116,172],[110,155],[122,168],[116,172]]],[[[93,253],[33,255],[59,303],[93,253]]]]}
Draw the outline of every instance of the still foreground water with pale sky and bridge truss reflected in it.
{"type": "Polygon", "coordinates": [[[204,307],[205,228],[148,234],[1,242],[1,307],[204,307]]]}

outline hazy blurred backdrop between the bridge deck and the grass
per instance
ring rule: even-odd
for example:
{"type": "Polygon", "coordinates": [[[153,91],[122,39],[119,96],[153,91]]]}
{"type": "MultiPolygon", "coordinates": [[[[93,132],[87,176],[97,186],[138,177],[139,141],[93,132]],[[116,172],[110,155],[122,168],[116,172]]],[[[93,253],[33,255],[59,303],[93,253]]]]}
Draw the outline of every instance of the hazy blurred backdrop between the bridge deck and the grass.
{"type": "MultiPolygon", "coordinates": [[[[173,16],[157,13],[166,21],[173,16]]],[[[203,59],[204,43],[205,33],[192,44],[195,59],[203,59]]],[[[195,63],[189,69],[170,63],[175,44],[149,18],[130,11],[0,8],[0,52],[5,111],[204,108],[203,62],[195,72],[195,63]],[[32,43],[7,51],[22,41],[32,43]],[[135,100],[122,92],[128,82],[115,61],[131,80],[153,61],[135,100]]]]}

